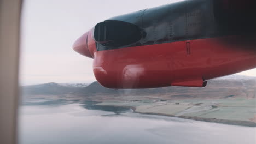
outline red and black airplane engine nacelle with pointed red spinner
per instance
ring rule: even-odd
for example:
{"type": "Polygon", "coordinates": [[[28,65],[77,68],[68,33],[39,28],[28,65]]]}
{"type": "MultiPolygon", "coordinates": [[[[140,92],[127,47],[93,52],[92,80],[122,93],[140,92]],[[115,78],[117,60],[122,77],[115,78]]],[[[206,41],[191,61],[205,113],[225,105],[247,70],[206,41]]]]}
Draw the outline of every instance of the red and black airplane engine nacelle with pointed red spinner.
{"type": "Polygon", "coordinates": [[[73,49],[94,58],[107,88],[204,87],[256,67],[253,4],[191,0],[144,9],[98,23],[73,49]]]}

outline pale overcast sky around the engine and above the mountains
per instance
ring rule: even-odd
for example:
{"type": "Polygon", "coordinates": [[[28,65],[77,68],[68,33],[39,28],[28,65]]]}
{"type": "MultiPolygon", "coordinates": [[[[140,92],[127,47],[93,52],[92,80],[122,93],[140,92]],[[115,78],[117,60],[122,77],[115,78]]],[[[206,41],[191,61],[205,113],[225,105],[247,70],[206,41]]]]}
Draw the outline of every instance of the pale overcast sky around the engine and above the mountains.
{"type": "MultiPolygon", "coordinates": [[[[109,17],[180,0],[25,0],[21,20],[21,85],[95,81],[92,59],[74,41],[109,17]]],[[[242,75],[256,76],[256,69],[242,75]]]]}

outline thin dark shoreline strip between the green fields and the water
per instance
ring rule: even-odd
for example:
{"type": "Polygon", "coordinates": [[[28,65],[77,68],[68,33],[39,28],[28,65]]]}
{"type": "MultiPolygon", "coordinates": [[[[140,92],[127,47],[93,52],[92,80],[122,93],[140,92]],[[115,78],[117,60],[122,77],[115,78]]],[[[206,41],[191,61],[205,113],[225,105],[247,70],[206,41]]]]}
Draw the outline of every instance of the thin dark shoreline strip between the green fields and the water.
{"type": "Polygon", "coordinates": [[[129,108],[133,110],[133,113],[139,113],[144,115],[156,115],[156,116],[167,116],[167,117],[177,117],[184,119],[191,119],[194,121],[202,121],[202,122],[211,122],[211,123],[220,123],[220,124],[228,124],[228,125],[237,125],[243,127],[256,127],[256,123],[249,121],[238,121],[238,120],[230,120],[230,119],[219,119],[219,118],[203,118],[203,117],[194,117],[194,116],[174,116],[167,113],[157,113],[157,112],[140,112],[136,111],[135,106],[126,106],[126,105],[102,105],[102,106],[113,106],[113,107],[123,107],[129,108]]]}

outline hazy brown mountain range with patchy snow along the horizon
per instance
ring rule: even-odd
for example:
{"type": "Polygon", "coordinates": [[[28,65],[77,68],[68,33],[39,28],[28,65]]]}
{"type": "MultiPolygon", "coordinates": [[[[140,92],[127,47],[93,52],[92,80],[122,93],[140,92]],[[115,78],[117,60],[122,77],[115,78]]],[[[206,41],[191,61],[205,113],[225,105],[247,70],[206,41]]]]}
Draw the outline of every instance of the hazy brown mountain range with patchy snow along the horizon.
{"type": "Polygon", "coordinates": [[[161,96],[166,99],[185,98],[256,98],[256,77],[231,75],[209,80],[204,88],[195,87],[164,87],[153,89],[108,89],[98,82],[86,84],[45,83],[41,85],[22,87],[24,95],[77,95],[91,96],[161,96]]]}

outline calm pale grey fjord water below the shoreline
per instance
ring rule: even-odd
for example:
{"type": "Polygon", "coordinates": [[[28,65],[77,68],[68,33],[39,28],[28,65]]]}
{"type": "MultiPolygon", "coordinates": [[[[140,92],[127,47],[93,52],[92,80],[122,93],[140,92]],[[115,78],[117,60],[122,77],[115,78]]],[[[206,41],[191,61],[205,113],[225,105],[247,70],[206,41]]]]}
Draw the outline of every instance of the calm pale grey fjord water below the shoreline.
{"type": "Polygon", "coordinates": [[[20,107],[21,144],[256,143],[254,127],[142,115],[91,103],[37,102],[20,107]]]}

